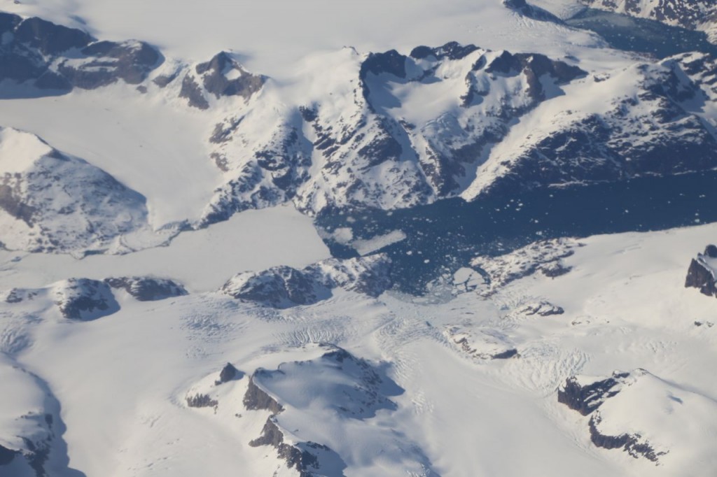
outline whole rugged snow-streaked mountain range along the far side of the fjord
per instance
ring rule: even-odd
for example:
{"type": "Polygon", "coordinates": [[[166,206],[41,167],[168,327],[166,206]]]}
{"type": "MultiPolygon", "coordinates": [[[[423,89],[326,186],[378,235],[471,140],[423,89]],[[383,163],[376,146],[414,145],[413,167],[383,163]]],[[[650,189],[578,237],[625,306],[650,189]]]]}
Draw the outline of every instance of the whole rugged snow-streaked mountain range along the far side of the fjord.
{"type": "MultiPolygon", "coordinates": [[[[525,16],[516,5],[500,8],[525,16]]],[[[154,228],[166,226],[169,217],[204,227],[247,208],[288,201],[309,214],[404,208],[517,185],[706,170],[716,162],[715,64],[706,54],[635,63],[612,53],[596,63],[457,42],[414,47],[408,54],[346,47],[301,59],[289,77],[272,80],[248,71],[229,52],[186,62],[162,57],[146,44],[97,41],[47,21],[4,18],[9,60],[42,59],[24,77],[6,80],[24,95],[51,94],[40,80],[52,73],[65,78],[64,92],[75,87],[69,105],[91,94],[78,89],[128,95],[128,86],[136,85],[128,102],[138,105],[143,101],[136,98],[145,96],[169,116],[201,120],[203,126],[187,134],[202,144],[201,168],[214,163],[217,175],[187,184],[194,190],[186,196],[194,199],[191,214],[189,203],[181,213],[157,213],[175,208],[168,201],[179,198],[176,187],[162,191],[150,204],[154,228]],[[23,29],[32,36],[21,35],[23,29]],[[54,37],[67,42],[53,42],[45,51],[54,37]],[[92,56],[95,50],[105,57],[92,56]],[[690,160],[676,160],[683,154],[690,160]],[[207,201],[201,213],[199,196],[207,201]]],[[[548,17],[530,21],[559,24],[548,17]]],[[[591,56],[595,51],[589,50],[591,56]]],[[[13,122],[31,130],[53,129],[17,110],[8,116],[19,116],[13,122]]],[[[73,148],[82,140],[72,141],[73,148]]],[[[171,136],[162,140],[160,147],[171,136]]],[[[141,185],[137,190],[146,195],[153,193],[151,180],[166,183],[166,168],[148,169],[153,175],[147,177],[142,172],[148,166],[135,164],[118,168],[108,161],[108,168],[141,185]]],[[[189,174],[189,165],[198,164],[181,171],[189,174]]]]}

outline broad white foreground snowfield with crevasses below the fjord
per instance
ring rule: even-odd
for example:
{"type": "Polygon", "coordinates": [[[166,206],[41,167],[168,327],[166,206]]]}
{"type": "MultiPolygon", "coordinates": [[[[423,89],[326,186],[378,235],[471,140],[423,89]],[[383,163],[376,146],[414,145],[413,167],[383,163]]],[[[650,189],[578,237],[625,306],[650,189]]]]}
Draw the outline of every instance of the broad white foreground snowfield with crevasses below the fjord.
{"type": "MultiPolygon", "coordinates": [[[[670,446],[655,466],[620,449],[595,448],[586,418],[559,404],[556,390],[572,375],[643,368],[701,396],[675,392],[685,405],[703,409],[712,403],[717,334],[708,323],[714,321],[716,302],[685,289],[684,279],[695,251],[716,233],[717,226],[706,225],[584,238],[584,246],[562,259],[572,267],[567,274],[554,279],[532,274],[490,298],[468,292],[442,304],[339,290],[318,304],[279,311],[215,292],[161,302],[117,294],[115,314],[68,322],[47,297],[37,295],[0,304],[0,343],[19,366],[47,380],[67,426],[58,442],[67,443],[70,468],[90,477],[219,475],[227,469],[252,476],[296,475],[273,448],[249,445],[270,413],[244,408],[247,377],[222,385],[214,380],[226,362],[251,375],[259,367],[275,370],[282,362],[315,360],[314,345],[320,343],[369,360],[403,390],[389,397],[395,409],[352,425],[353,418],[338,418],[333,408],[334,386],[343,382],[342,375],[326,375],[326,386],[317,388],[305,383],[311,373],[290,375],[296,385],[267,388],[296,410],[278,418],[286,441],[325,439],[318,443],[349,464],[347,476],[364,475],[359,469],[400,475],[408,468],[404,459],[413,458],[426,469],[415,475],[430,475],[432,469],[465,477],[706,477],[714,471],[703,458],[708,458],[715,419],[707,408],[694,414],[705,425],[677,428],[682,420],[647,416],[650,440],[658,442],[659,436],[660,445],[670,446]],[[513,313],[538,299],[564,307],[565,313],[513,313]],[[703,326],[695,326],[695,320],[703,326]],[[455,327],[471,336],[490,335],[494,343],[500,338],[516,347],[519,357],[476,360],[450,346],[443,330],[455,327]],[[185,398],[194,392],[217,400],[216,410],[187,408],[185,398]],[[386,450],[374,461],[380,467],[372,468],[371,456],[342,444],[384,436],[386,428],[412,443],[414,453],[386,450]],[[683,435],[688,438],[675,439],[683,435]],[[705,445],[691,448],[695,442],[705,445]]],[[[22,261],[4,265],[14,266],[22,261]]],[[[635,400],[642,403],[653,394],[648,390],[635,400]]],[[[11,396],[23,399],[19,391],[11,396]]],[[[635,400],[622,405],[615,397],[610,412],[630,414],[635,400]]],[[[635,419],[645,418],[647,410],[640,412],[632,414],[635,419]]],[[[1,434],[6,442],[6,433],[1,434]]]]}

